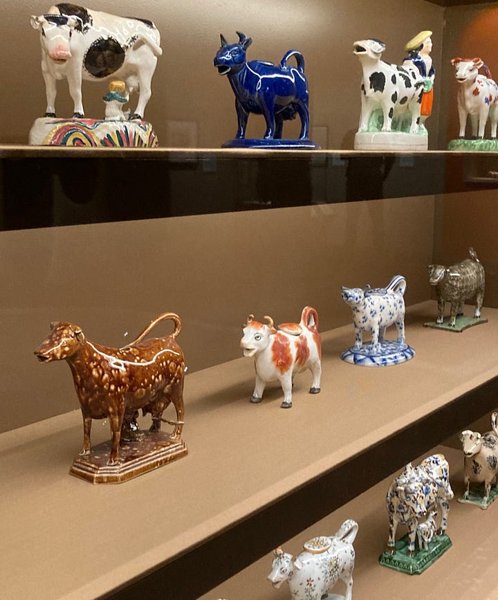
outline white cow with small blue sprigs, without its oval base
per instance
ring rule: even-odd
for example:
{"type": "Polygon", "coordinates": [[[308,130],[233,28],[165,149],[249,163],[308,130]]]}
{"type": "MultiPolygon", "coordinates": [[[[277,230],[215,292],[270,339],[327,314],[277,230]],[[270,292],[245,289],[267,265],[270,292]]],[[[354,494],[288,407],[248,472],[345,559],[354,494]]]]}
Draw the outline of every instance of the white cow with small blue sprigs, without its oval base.
{"type": "Polygon", "coordinates": [[[406,280],[401,275],[392,278],[387,288],[342,288],[342,300],[347,302],[353,311],[356,337],[353,351],[362,347],[363,331],[370,331],[371,351],[374,354],[379,352],[386,327],[389,325],[396,325],[398,343],[405,343],[405,289],[406,280]]]}

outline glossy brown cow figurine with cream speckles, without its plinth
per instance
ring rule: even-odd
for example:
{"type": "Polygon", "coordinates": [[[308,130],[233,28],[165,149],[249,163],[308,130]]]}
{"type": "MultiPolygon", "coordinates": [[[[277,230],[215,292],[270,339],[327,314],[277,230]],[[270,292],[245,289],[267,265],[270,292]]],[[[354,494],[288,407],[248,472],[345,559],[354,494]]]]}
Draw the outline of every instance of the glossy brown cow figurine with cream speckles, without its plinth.
{"type": "Polygon", "coordinates": [[[80,400],[84,437],[81,455],[90,454],[92,419],[109,419],[112,433],[107,464],[118,462],[122,425],[133,423],[139,408],[152,416],[151,431],[160,430],[163,411],[170,403],[176,409],[171,439],[179,440],[183,429],[183,376],[185,358],[175,341],[181,319],[163,313],[129,345],[116,349],[87,340],[80,327],[68,322],[51,325],[50,336],[35,350],[43,363],[67,361],[80,400]],[[169,319],[174,331],[164,338],[142,341],[158,322],[169,319]]]}

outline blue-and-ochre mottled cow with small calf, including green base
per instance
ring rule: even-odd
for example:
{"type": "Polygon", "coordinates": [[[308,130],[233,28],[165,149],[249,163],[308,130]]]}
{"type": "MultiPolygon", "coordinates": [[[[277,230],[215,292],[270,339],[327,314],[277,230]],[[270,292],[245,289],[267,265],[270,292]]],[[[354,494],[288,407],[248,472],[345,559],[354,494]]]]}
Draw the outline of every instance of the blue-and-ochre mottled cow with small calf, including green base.
{"type": "Polygon", "coordinates": [[[446,535],[452,498],[448,461],[442,454],[428,456],[418,466],[407,464],[387,491],[389,538],[380,564],[410,575],[420,574],[432,565],[452,545],[446,535]],[[441,513],[441,525],[434,534],[436,511],[441,513]],[[426,520],[419,523],[421,518],[426,520]],[[399,523],[407,525],[408,534],[396,542],[399,523]]]}

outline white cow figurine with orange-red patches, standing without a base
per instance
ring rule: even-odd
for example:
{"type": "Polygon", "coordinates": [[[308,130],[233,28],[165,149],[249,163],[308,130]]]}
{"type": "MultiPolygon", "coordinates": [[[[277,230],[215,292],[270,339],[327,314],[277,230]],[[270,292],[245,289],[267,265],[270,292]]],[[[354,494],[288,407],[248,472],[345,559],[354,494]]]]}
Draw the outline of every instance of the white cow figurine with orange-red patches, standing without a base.
{"type": "Polygon", "coordinates": [[[311,370],[313,383],[310,394],[320,392],[322,375],[322,341],[318,333],[318,314],[305,307],[301,322],[284,323],[273,327],[273,319],[266,316],[268,324],[254,320],[250,315],[242,325],[241,348],[244,356],[255,357],[256,385],[251,402],[261,402],[268,381],[280,381],[284,390],[282,408],[292,406],[293,374],[311,370]]]}

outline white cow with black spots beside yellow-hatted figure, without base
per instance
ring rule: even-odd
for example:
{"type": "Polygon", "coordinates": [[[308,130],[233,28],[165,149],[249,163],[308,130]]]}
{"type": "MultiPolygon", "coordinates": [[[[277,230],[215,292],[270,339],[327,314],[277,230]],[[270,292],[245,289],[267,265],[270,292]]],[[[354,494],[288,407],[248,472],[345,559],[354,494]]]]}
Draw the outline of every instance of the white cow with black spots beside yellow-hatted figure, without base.
{"type": "Polygon", "coordinates": [[[410,117],[409,133],[418,133],[423,95],[423,77],[412,66],[387,64],[380,60],[385,44],[378,39],[363,39],[353,44],[353,53],[362,65],[362,110],[358,132],[369,131],[376,109],[382,109],[382,131],[391,131],[393,119],[410,117]]]}

